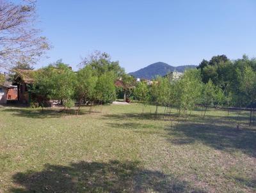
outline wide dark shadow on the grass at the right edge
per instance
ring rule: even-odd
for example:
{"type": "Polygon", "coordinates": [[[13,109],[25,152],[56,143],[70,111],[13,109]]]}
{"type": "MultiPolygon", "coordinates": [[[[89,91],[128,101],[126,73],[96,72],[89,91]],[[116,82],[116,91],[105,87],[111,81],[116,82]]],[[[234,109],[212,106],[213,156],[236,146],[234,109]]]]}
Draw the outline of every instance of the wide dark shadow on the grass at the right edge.
{"type": "Polygon", "coordinates": [[[256,157],[256,129],[243,128],[237,130],[234,126],[216,125],[210,123],[179,123],[170,130],[170,139],[174,144],[188,144],[200,142],[216,150],[241,150],[250,156],[256,157]]]}

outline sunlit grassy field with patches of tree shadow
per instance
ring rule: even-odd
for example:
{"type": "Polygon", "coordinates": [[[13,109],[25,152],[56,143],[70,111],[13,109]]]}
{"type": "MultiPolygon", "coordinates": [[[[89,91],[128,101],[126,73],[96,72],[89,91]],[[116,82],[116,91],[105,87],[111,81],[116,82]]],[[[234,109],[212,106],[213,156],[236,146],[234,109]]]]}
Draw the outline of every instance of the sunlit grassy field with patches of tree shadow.
{"type": "Polygon", "coordinates": [[[177,123],[175,109],[157,119],[139,104],[87,110],[0,108],[0,192],[256,191],[248,112],[177,123]]]}

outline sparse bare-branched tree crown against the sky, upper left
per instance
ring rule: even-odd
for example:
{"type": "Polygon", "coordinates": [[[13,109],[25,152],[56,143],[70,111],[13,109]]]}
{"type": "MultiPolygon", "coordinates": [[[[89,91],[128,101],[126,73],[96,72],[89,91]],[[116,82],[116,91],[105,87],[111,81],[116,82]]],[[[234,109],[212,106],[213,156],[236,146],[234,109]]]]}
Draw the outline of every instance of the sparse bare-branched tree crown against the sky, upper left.
{"type": "Polygon", "coordinates": [[[35,1],[0,1],[0,68],[10,70],[19,61],[33,65],[49,49],[35,23],[35,1]]]}

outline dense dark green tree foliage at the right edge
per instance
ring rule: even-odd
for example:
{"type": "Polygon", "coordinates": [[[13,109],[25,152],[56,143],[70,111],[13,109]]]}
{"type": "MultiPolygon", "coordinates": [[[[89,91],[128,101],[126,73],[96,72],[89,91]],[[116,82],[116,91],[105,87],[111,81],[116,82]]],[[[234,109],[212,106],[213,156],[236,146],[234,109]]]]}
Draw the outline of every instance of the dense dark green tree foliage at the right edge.
{"type": "Polygon", "coordinates": [[[222,89],[222,92],[216,91],[219,102],[215,103],[238,107],[255,103],[256,59],[244,55],[242,59],[230,61],[225,55],[213,56],[209,62],[203,60],[198,68],[205,84],[211,79],[216,89],[222,89]]]}

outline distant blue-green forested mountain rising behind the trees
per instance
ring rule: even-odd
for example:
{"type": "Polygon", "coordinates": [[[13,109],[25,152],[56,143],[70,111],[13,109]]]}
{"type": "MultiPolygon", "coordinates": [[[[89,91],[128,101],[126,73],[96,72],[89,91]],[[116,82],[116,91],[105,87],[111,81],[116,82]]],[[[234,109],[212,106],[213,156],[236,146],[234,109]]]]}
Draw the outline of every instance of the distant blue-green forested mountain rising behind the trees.
{"type": "Polygon", "coordinates": [[[129,73],[136,78],[140,79],[153,79],[157,75],[164,76],[168,72],[173,72],[176,70],[177,72],[184,72],[188,68],[196,68],[195,65],[185,65],[185,66],[171,66],[163,62],[154,63],[152,65],[148,65],[145,68],[141,68],[135,72],[129,73]]]}

